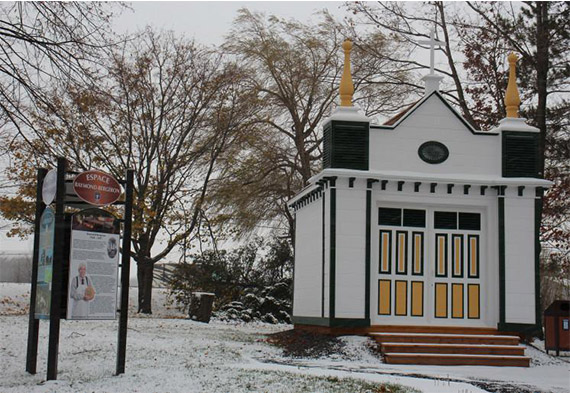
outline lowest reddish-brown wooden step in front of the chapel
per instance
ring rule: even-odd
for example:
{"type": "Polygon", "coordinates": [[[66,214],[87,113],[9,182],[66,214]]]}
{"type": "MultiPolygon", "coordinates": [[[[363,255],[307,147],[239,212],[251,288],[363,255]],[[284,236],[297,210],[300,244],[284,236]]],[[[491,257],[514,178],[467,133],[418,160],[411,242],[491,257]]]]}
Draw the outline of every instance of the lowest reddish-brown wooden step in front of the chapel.
{"type": "Polygon", "coordinates": [[[503,355],[462,355],[431,353],[386,353],[384,361],[389,364],[430,364],[446,366],[499,366],[529,367],[530,358],[526,356],[503,355]]]}

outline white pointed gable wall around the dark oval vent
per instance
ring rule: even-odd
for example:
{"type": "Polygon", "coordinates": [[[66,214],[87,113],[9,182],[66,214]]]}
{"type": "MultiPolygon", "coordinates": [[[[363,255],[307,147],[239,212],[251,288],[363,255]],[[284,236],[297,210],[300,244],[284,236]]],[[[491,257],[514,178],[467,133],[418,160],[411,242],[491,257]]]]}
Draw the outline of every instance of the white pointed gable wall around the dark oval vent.
{"type": "Polygon", "coordinates": [[[417,108],[396,129],[370,130],[370,170],[426,174],[501,174],[501,136],[473,134],[437,96],[417,108]],[[427,141],[449,149],[449,158],[437,165],[418,156],[427,141]]]}

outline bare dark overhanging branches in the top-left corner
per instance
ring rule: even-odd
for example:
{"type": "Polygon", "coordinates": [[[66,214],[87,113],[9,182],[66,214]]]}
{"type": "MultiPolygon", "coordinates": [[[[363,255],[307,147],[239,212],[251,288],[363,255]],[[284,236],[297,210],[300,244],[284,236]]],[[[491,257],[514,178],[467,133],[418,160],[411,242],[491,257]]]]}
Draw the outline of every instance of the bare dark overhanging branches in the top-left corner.
{"type": "Polygon", "coordinates": [[[110,21],[120,3],[3,2],[0,4],[0,122],[20,136],[25,106],[49,105],[43,89],[55,79],[89,75],[109,46],[110,21]]]}

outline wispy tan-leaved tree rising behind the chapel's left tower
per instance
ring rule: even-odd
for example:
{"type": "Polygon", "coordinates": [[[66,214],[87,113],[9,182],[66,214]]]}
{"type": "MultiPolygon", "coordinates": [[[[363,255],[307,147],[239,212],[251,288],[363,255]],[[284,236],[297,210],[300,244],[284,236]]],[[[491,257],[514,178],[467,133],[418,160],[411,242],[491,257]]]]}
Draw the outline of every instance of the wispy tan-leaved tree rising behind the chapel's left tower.
{"type": "MultiPolygon", "coordinates": [[[[264,225],[292,235],[286,202],[321,168],[322,121],[338,95],[341,44],[353,32],[327,13],[317,17],[318,23],[303,24],[242,9],[223,45],[248,70],[246,83],[259,101],[247,145],[217,194],[222,212],[243,232],[264,225]]],[[[355,46],[357,102],[369,115],[401,107],[405,71],[391,72],[394,67],[385,69],[387,63],[370,54],[396,43],[375,34],[355,46]]]]}

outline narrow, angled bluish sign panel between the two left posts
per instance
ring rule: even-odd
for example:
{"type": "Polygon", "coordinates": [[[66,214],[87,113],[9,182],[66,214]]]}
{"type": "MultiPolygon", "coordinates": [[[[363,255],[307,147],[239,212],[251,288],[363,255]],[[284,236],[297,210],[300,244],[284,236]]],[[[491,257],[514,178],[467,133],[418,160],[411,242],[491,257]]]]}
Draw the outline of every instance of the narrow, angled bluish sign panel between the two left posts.
{"type": "Polygon", "coordinates": [[[40,218],[40,247],[38,252],[38,276],[36,294],[36,319],[49,319],[51,304],[51,282],[53,272],[53,238],[55,213],[46,207],[40,218]]]}

